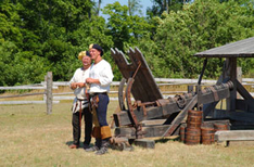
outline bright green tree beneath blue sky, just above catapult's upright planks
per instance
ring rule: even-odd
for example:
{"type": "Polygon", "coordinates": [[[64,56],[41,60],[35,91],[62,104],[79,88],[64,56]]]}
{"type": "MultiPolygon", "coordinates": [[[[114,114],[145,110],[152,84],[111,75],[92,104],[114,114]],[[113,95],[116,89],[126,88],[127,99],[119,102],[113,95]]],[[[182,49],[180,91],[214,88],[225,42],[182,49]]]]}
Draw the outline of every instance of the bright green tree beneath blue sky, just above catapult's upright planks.
{"type": "Polygon", "coordinates": [[[144,17],[128,15],[128,10],[127,5],[120,5],[119,2],[107,4],[103,9],[103,13],[110,15],[107,35],[112,36],[114,47],[122,51],[137,44],[151,28],[144,17]]]}

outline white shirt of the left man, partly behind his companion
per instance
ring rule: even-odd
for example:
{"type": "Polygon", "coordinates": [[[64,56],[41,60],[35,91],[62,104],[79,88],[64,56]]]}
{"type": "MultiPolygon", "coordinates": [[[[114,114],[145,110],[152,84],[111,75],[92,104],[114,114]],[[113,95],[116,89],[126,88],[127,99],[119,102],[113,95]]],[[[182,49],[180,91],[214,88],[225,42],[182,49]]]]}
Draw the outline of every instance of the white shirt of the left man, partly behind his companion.
{"type": "MultiPolygon", "coordinates": [[[[74,73],[73,78],[69,80],[69,87],[73,82],[86,82],[86,79],[89,77],[90,67],[88,69],[77,68],[74,73]]],[[[86,100],[86,87],[84,88],[76,88],[74,90],[74,94],[79,100],[86,100]]]]}

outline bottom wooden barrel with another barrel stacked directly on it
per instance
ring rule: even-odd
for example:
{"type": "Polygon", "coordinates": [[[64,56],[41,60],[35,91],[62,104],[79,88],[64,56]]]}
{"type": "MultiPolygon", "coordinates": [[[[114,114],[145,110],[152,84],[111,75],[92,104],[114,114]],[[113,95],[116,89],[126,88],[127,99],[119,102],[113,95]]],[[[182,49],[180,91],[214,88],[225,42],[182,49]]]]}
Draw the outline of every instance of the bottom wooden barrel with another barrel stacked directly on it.
{"type": "Polygon", "coordinates": [[[199,128],[186,128],[186,144],[195,145],[200,144],[201,129],[199,128]]]}

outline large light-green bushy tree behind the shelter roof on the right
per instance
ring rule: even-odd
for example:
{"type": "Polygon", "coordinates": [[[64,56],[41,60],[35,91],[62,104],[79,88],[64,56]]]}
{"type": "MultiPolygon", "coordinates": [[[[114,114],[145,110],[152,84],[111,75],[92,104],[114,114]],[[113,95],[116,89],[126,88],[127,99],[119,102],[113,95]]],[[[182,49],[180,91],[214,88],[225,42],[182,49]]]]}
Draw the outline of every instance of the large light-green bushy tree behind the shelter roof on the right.
{"type": "MultiPolygon", "coordinates": [[[[185,5],[183,11],[164,13],[154,36],[154,50],[162,69],[155,72],[157,77],[196,77],[202,68],[202,60],[193,54],[228,42],[254,36],[253,4],[239,5],[234,1],[219,3],[217,0],[195,0],[185,5]]],[[[243,63],[243,72],[253,66],[253,62],[243,63]]],[[[151,62],[152,63],[152,62],[151,62]]],[[[207,64],[206,77],[220,74],[223,60],[211,59],[207,64]]],[[[158,66],[158,65],[154,65],[158,66]]]]}

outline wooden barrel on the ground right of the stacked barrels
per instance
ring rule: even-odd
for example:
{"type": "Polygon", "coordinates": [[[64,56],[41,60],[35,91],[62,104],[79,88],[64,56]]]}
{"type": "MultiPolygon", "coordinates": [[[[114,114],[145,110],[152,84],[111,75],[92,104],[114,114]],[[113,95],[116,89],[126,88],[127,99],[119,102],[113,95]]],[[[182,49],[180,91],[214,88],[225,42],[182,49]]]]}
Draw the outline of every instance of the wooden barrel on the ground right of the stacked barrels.
{"type": "Polygon", "coordinates": [[[206,145],[214,143],[214,133],[213,127],[201,127],[201,143],[206,145]]]}

